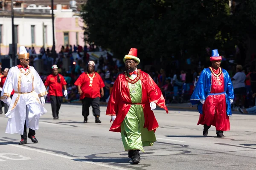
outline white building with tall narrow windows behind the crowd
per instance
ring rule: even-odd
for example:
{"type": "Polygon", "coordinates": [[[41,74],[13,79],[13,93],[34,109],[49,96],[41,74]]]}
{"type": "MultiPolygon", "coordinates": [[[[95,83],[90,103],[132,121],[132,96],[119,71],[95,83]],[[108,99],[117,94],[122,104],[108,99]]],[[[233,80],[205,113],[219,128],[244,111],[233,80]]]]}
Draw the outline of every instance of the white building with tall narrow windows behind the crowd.
{"type": "MultiPolygon", "coordinates": [[[[26,47],[33,46],[38,53],[43,46],[45,48],[52,47],[51,14],[15,11],[14,17],[17,48],[21,45],[26,47]]],[[[1,54],[9,54],[9,44],[12,44],[12,18],[10,12],[0,11],[0,43],[1,54]]]]}

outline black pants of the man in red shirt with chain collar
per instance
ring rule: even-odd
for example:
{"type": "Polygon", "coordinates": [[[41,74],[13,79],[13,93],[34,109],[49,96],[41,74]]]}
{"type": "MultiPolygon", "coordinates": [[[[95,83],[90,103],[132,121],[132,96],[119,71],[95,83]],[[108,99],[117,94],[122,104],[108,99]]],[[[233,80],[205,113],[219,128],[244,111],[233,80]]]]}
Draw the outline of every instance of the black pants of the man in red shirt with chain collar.
{"type": "Polygon", "coordinates": [[[94,99],[85,97],[84,99],[82,99],[82,103],[82,115],[84,116],[84,118],[87,118],[87,116],[89,116],[90,105],[92,105],[93,107],[93,116],[100,116],[99,97],[96,97],[94,99]]]}

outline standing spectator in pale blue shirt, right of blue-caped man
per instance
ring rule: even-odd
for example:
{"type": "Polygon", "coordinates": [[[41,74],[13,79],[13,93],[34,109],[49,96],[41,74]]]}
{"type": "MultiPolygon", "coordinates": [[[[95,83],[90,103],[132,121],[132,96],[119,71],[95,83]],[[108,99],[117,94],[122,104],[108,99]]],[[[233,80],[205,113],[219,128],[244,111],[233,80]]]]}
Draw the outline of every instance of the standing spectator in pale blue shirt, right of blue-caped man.
{"type": "Polygon", "coordinates": [[[236,106],[241,108],[244,108],[244,96],[246,95],[245,79],[246,75],[243,72],[243,67],[236,65],[236,74],[231,80],[233,81],[236,106]]]}

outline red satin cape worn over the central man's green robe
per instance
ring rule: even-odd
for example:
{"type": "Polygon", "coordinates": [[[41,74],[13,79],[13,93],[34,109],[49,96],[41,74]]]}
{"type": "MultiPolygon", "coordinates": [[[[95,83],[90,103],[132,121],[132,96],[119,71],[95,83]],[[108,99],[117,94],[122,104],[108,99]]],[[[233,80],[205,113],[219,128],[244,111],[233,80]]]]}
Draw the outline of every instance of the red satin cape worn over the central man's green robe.
{"type": "MultiPolygon", "coordinates": [[[[159,126],[153,111],[150,109],[149,103],[155,102],[160,108],[165,109],[166,113],[169,112],[165,105],[163,94],[154,80],[145,72],[140,71],[140,81],[142,85],[142,101],[140,104],[143,106],[145,117],[144,128],[148,128],[149,131],[155,131],[159,126]]],[[[108,101],[106,115],[116,115],[116,119],[111,125],[110,131],[121,132],[122,121],[125,119],[126,114],[131,108],[131,104],[128,81],[125,74],[122,73],[117,77],[108,101]]]]}

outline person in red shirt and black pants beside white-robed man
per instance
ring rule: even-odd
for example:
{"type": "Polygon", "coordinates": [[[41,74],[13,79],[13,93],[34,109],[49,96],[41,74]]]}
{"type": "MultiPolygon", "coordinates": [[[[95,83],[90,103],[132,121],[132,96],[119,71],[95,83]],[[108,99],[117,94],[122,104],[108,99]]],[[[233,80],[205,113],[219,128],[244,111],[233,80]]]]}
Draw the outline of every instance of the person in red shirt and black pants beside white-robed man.
{"type": "Polygon", "coordinates": [[[62,87],[64,88],[64,96],[67,96],[67,82],[61,74],[58,74],[57,65],[52,65],[52,74],[50,74],[45,80],[45,88],[49,86],[49,96],[52,105],[53,119],[58,119],[59,110],[61,108],[62,101],[62,87]]]}

